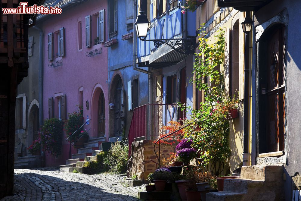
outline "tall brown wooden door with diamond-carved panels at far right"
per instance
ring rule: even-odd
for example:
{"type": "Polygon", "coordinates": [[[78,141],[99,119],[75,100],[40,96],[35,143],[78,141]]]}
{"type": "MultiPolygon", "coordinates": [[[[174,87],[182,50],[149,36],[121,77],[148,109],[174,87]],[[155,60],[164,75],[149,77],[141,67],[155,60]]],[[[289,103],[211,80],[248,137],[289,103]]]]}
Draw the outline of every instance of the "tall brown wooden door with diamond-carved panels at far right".
{"type": "Polygon", "coordinates": [[[285,27],[276,30],[268,41],[267,61],[267,122],[266,133],[269,152],[284,149],[285,115],[285,27]]]}

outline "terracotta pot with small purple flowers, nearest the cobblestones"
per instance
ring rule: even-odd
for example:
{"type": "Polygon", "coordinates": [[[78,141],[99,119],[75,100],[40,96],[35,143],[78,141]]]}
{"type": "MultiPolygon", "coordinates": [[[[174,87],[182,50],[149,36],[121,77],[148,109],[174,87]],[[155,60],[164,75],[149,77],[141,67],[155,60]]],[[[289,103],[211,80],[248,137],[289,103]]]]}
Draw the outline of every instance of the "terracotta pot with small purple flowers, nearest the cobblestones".
{"type": "Polygon", "coordinates": [[[156,191],[165,189],[166,181],[172,177],[172,173],[168,168],[159,168],[154,172],[154,183],[156,191]]]}

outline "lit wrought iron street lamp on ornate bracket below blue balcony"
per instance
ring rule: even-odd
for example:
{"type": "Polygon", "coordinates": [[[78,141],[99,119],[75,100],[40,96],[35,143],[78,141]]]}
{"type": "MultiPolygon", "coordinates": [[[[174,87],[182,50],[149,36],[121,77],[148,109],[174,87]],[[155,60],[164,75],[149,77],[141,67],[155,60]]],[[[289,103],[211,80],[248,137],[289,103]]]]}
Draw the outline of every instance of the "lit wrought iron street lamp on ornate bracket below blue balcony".
{"type": "Polygon", "coordinates": [[[194,48],[196,48],[197,44],[195,43],[195,38],[146,39],[150,22],[148,21],[147,16],[144,14],[144,11],[140,11],[139,13],[140,14],[137,16],[135,22],[135,27],[137,30],[138,38],[141,41],[153,41],[155,47],[166,44],[175,51],[187,55],[192,53],[194,51],[194,48]],[[171,40],[175,40],[175,42],[169,42],[171,40]],[[183,48],[178,48],[180,46],[183,46],[183,48]]]}

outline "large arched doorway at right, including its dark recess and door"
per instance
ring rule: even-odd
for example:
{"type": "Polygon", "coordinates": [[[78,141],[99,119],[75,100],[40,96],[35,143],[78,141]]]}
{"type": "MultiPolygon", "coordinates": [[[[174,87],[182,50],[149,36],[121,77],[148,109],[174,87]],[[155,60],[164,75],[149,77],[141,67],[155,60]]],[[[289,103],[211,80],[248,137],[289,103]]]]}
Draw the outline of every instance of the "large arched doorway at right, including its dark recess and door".
{"type": "Polygon", "coordinates": [[[284,150],[286,27],[276,24],[259,42],[259,153],[284,150]]]}

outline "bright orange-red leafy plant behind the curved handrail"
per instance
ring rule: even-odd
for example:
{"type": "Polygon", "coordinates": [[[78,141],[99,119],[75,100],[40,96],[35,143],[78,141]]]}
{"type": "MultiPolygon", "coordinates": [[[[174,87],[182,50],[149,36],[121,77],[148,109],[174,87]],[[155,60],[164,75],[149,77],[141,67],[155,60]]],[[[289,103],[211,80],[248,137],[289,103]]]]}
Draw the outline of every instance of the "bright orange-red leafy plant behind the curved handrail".
{"type": "MultiPolygon", "coordinates": [[[[177,121],[169,121],[168,124],[169,125],[163,126],[161,128],[162,132],[161,132],[159,138],[164,137],[164,136],[180,129],[181,127],[183,127],[182,124],[177,121]],[[168,131],[168,133],[166,133],[165,131],[168,131]]],[[[166,145],[174,145],[183,139],[185,132],[186,132],[185,128],[181,129],[181,130],[175,132],[173,135],[170,135],[170,136],[164,138],[164,140],[160,140],[160,143],[166,144],[166,145]]],[[[154,140],[154,143],[155,142],[156,142],[156,140],[154,140]]]]}

